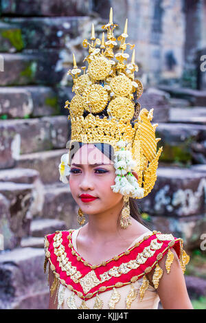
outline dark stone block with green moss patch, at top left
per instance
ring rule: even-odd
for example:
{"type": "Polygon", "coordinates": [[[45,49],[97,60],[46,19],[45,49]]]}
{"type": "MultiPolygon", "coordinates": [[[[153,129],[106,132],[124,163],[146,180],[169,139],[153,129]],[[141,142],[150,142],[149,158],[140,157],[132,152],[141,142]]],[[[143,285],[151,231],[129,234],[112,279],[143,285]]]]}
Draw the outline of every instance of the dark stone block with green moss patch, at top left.
{"type": "Polygon", "coordinates": [[[0,24],[0,52],[23,49],[64,48],[91,32],[89,16],[5,17],[0,24]],[[84,35],[84,36],[83,36],[84,35]]]}

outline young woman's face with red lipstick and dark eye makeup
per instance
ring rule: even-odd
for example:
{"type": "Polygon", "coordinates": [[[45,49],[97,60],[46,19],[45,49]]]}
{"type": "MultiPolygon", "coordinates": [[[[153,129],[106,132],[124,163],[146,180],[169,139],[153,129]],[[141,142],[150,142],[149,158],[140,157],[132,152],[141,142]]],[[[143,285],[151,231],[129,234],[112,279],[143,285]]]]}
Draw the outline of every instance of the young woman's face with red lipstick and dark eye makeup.
{"type": "Polygon", "coordinates": [[[113,161],[93,144],[84,144],[71,160],[69,186],[73,199],[86,214],[96,214],[123,203],[123,196],[111,189],[115,185],[113,161]],[[98,164],[98,165],[96,165],[98,164]],[[97,197],[93,201],[81,199],[81,194],[97,197]]]}

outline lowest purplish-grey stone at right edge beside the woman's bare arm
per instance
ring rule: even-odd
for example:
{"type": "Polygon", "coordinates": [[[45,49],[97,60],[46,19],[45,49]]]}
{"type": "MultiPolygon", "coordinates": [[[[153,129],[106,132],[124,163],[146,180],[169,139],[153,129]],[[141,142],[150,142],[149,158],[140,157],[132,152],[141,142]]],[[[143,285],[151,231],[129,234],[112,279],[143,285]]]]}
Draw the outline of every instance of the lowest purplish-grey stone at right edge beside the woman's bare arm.
{"type": "Polygon", "coordinates": [[[190,298],[206,296],[206,280],[194,276],[185,276],[187,291],[190,298]]]}

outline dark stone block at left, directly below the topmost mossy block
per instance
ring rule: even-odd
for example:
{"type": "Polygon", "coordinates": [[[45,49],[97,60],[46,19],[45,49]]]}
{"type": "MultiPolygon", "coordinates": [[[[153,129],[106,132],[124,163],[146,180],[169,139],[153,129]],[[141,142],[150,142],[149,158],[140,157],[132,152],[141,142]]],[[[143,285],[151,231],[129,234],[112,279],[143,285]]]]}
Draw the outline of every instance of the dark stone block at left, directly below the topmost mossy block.
{"type": "Polygon", "coordinates": [[[1,86],[56,85],[66,72],[62,67],[60,52],[54,49],[23,54],[0,53],[0,57],[3,61],[1,86]]]}

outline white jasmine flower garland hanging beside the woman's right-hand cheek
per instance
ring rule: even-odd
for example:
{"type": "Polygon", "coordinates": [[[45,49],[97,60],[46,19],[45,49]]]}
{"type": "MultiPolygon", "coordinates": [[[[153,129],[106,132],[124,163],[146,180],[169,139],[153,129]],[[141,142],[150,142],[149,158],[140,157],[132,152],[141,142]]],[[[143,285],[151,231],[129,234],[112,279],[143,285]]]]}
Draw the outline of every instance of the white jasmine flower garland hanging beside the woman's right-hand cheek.
{"type": "Polygon", "coordinates": [[[124,148],[126,142],[119,140],[117,146],[121,148],[120,151],[115,153],[115,185],[111,186],[113,192],[120,192],[128,197],[144,197],[144,188],[139,187],[136,177],[132,174],[131,170],[135,167],[135,160],[130,151],[124,148]],[[126,176],[124,176],[126,175],[126,176]]]}

